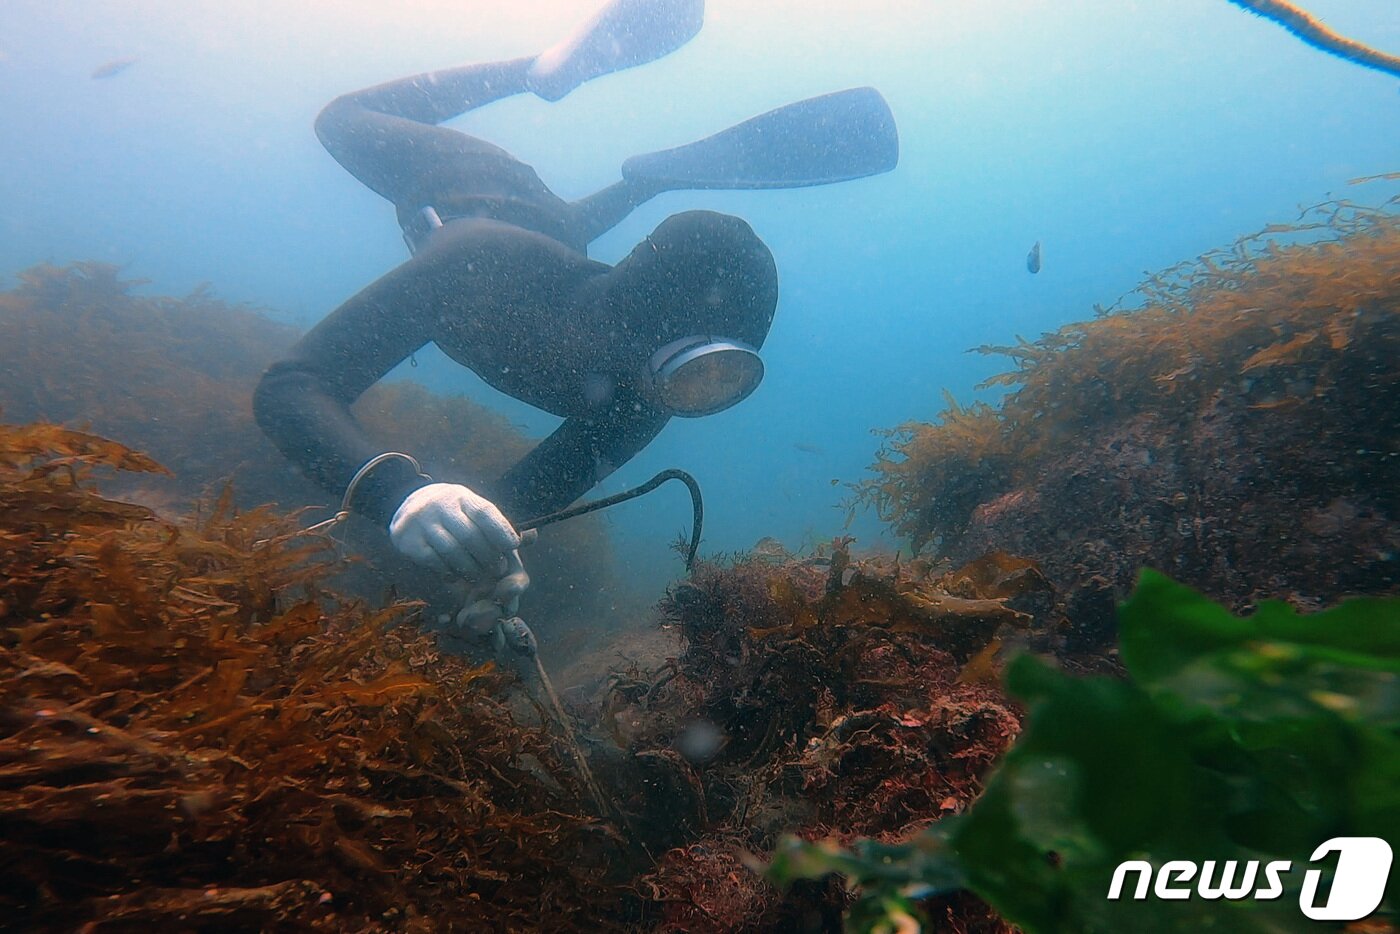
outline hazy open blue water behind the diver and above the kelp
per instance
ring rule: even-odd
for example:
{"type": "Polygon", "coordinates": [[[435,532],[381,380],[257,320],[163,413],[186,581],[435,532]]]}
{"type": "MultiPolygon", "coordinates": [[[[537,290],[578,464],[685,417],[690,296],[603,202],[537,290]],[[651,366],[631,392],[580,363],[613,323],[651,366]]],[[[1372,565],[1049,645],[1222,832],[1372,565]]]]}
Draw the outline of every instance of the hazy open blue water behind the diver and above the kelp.
{"type": "MultiPolygon", "coordinates": [[[[580,0],[4,0],[0,273],[120,263],[151,288],[266,305],[302,326],[405,259],[392,209],[316,143],[337,94],[531,55],[580,0]],[[109,80],[91,71],[137,63],[109,80]]],[[[1308,0],[1333,28],[1400,52],[1396,0],[1308,0]]],[[[847,185],[669,193],[595,244],[623,256],[669,213],[745,217],[781,276],[767,379],[743,405],[675,420],[601,492],[683,466],[704,486],[706,548],[840,534],[872,428],[928,419],[941,391],[1004,368],[966,354],[1092,314],[1156,270],[1299,204],[1379,200],[1348,179],[1400,171],[1400,81],[1302,45],[1226,0],[711,0],[700,36],[560,104],[514,98],[456,126],[535,165],[561,196],[634,153],[788,101],[871,84],[902,136],[897,171],[847,185]],[[1044,267],[1025,256],[1042,241],[1044,267]],[[801,445],[797,447],[797,445],[801,445]]],[[[1393,188],[1393,183],[1392,183],[1393,188]]],[[[414,378],[543,435],[554,420],[420,354],[414,378]]],[[[678,487],[679,489],[679,487],[678,487]]],[[[638,585],[680,492],[612,511],[638,585]]],[[[850,529],[876,545],[869,514],[850,529]]]]}

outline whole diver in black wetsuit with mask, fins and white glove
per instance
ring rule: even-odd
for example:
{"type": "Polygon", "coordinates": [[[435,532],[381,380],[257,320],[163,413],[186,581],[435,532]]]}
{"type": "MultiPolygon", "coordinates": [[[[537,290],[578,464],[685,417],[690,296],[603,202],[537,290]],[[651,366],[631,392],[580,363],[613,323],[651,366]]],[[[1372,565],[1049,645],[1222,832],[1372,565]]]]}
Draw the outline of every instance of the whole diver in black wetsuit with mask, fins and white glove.
{"type": "Polygon", "coordinates": [[[613,0],[533,59],[472,64],[347,94],[316,120],[330,154],[393,202],[412,259],[307,333],[258,386],[258,423],[328,490],[382,448],[350,414],[367,388],[433,342],[563,424],[487,490],[428,483],[406,461],[364,473],[351,506],[399,552],[468,580],[528,583],[510,518],[561,508],[645,447],[672,414],[701,416],[757,385],[777,304],[767,246],[736,217],[664,221],[616,266],[591,241],[654,195],[790,188],[893,168],[893,120],[869,90],[813,98],[687,147],[634,157],[574,203],[490,143],[437,123],[532,91],[654,60],[700,28],[703,0],[613,0]],[[798,151],[798,150],[808,151],[798,151]],[[510,517],[510,518],[508,518],[510,517]]]}

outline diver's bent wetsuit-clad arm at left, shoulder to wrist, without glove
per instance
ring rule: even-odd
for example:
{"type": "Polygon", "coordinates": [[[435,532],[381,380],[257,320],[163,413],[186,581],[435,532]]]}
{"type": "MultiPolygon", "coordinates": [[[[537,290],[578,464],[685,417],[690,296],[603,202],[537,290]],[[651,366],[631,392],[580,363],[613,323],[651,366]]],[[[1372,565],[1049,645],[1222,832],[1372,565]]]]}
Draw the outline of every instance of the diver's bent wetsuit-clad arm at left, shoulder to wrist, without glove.
{"type": "MultiPolygon", "coordinates": [[[[365,287],[269,367],[253,393],[263,433],[337,501],[356,471],[384,452],[356,423],[350,403],[433,340],[434,297],[421,272],[410,260],[365,287]]],[[[386,524],[426,483],[407,462],[385,461],[360,482],[351,508],[386,524]]]]}

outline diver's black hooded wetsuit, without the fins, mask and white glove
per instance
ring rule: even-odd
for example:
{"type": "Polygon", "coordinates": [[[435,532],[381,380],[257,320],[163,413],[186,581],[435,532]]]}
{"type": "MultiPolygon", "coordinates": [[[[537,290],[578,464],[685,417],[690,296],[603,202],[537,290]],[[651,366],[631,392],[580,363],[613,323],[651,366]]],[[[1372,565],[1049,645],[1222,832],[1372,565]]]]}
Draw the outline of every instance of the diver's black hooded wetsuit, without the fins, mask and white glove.
{"type": "MultiPolygon", "coordinates": [[[[645,447],[668,416],[638,388],[651,353],[689,335],[760,346],[777,272],[749,225],[708,211],[664,221],[616,266],[591,241],[657,193],[619,182],[560,200],[532,168],[437,123],[525,91],[531,59],[405,78],[337,98],[316,120],[330,154],[393,202],[400,224],[433,207],[444,227],[414,256],[307,333],[258,386],[258,423],[339,494],[384,451],[353,403],[437,343],[487,384],[564,423],[480,490],[514,521],[563,508],[645,447]]],[[[386,522],[423,486],[403,461],[375,468],[353,507],[386,522]]]]}

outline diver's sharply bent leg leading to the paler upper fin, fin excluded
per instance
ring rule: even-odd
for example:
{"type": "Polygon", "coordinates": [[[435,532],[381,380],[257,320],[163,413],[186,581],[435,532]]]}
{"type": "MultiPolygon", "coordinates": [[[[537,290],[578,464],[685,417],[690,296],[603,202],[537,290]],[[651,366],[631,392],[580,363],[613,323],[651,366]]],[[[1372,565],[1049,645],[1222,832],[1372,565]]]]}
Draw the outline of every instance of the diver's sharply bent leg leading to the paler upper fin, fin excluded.
{"type": "Polygon", "coordinates": [[[475,108],[526,91],[533,59],[468,64],[354,91],[316,118],[322,146],[351,175],[395,204],[420,195],[424,176],[463,155],[503,150],[437,126],[475,108]]]}

